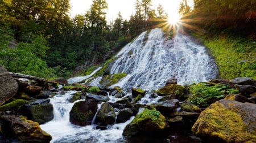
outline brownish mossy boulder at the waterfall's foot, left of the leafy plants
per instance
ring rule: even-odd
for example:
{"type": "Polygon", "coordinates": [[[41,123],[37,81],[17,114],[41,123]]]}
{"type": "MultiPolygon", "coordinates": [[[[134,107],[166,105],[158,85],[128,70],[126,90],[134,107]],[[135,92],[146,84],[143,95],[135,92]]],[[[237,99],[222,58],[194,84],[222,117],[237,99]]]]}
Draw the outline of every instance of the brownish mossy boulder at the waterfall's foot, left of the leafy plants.
{"type": "Polygon", "coordinates": [[[185,88],[178,84],[167,84],[162,88],[156,90],[158,96],[167,96],[170,94],[177,94],[177,96],[183,96],[185,93],[185,88]]]}

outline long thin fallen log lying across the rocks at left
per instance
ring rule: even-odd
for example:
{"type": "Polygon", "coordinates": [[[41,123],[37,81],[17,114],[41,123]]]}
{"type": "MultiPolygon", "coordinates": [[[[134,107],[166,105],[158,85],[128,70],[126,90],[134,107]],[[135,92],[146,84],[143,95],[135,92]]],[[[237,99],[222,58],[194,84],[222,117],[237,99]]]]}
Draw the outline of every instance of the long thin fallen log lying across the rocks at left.
{"type": "Polygon", "coordinates": [[[9,73],[14,78],[23,78],[23,79],[28,79],[28,80],[35,80],[38,83],[58,84],[56,81],[46,80],[46,79],[36,77],[36,76],[24,75],[24,74],[21,74],[21,73],[14,73],[14,72],[9,72],[9,73]]]}

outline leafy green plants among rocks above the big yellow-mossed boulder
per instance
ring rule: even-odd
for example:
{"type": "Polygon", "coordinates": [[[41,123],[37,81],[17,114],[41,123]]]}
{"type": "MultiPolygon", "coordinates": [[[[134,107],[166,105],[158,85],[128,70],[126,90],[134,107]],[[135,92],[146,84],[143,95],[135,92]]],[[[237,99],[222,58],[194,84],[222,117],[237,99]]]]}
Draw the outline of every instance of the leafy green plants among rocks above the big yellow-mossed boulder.
{"type": "Polygon", "coordinates": [[[187,99],[188,102],[199,107],[207,107],[216,99],[224,98],[226,94],[238,93],[238,90],[225,84],[199,83],[192,85],[189,92],[192,96],[187,99]]]}

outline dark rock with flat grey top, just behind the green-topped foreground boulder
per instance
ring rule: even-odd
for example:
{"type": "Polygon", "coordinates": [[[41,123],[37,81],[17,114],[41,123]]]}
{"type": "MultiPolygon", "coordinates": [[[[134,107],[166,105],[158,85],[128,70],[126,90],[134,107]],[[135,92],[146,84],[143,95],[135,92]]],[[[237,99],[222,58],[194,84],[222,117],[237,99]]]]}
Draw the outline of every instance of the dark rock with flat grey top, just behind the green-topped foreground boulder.
{"type": "Polygon", "coordinates": [[[161,114],[168,115],[171,112],[174,112],[176,108],[179,106],[179,100],[171,99],[171,100],[155,103],[154,105],[156,110],[160,111],[161,114]]]}

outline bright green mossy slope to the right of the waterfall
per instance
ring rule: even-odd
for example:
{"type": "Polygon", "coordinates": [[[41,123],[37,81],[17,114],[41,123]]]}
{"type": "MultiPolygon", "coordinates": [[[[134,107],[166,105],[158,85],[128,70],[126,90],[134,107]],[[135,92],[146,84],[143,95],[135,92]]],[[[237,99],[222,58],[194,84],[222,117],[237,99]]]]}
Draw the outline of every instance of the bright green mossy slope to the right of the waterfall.
{"type": "Polygon", "coordinates": [[[255,40],[238,36],[201,37],[220,70],[222,79],[256,79],[255,40]]]}

